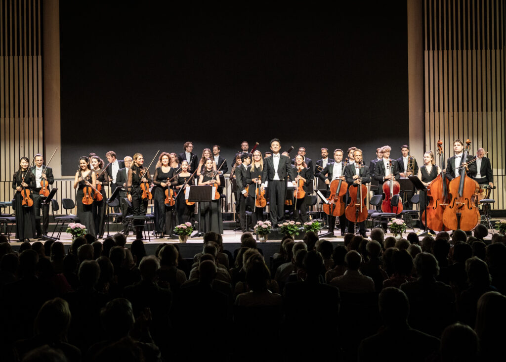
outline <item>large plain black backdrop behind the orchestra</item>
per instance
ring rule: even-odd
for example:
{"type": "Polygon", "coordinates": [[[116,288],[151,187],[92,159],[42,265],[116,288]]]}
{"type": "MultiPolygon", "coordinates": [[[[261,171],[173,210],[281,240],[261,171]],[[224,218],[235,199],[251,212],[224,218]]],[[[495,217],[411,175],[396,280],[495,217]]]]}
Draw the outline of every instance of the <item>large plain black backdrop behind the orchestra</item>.
{"type": "MultiPolygon", "coordinates": [[[[78,158],[281,139],[364,150],[408,140],[406,2],[60,2],[62,174],[78,158]],[[240,6],[239,6],[240,5],[240,6]]],[[[293,156],[296,151],[290,155],[293,156]]],[[[153,169],[151,169],[153,170],[153,169]]]]}

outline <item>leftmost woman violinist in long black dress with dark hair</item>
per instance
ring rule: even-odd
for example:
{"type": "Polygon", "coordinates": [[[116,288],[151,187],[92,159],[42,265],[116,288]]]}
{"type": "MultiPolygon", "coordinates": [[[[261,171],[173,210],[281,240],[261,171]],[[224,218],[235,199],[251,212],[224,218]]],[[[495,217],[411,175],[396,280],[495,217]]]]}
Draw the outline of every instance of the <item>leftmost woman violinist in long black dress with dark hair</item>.
{"type": "Polygon", "coordinates": [[[21,157],[19,170],[12,177],[14,194],[14,209],[16,212],[16,238],[22,243],[25,239],[35,237],[35,204],[31,207],[23,206],[23,188],[34,190],[36,188],[35,175],[28,170],[28,158],[21,157]],[[23,180],[24,179],[24,180],[23,180]]]}

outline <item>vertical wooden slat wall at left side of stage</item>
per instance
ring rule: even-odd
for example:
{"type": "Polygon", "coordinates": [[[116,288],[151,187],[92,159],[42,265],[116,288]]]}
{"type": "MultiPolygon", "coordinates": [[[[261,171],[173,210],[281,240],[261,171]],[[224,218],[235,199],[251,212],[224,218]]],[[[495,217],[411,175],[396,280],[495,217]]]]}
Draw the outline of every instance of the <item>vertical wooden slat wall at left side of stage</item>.
{"type": "Polygon", "coordinates": [[[40,0],[0,0],[0,200],[22,156],[43,151],[40,0]]]}

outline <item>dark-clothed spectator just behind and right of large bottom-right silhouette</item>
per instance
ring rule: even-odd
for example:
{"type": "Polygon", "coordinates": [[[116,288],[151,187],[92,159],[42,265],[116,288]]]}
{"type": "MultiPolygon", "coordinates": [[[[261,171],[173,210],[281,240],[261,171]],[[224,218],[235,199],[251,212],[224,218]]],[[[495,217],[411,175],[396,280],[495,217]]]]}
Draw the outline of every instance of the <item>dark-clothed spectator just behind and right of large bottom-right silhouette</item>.
{"type": "Polygon", "coordinates": [[[409,299],[409,325],[432,336],[440,336],[454,322],[455,296],[448,285],[436,281],[439,266],[432,254],[418,254],[414,264],[418,279],[401,285],[409,299]]]}

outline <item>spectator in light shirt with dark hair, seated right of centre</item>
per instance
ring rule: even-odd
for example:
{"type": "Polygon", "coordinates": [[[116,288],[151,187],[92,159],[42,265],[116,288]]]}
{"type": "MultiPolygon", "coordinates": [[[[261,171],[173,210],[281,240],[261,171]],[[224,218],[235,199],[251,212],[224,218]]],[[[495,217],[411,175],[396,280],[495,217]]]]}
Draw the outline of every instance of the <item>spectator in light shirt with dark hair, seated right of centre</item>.
{"type": "Polygon", "coordinates": [[[330,285],[346,293],[373,293],[374,281],[358,270],[361,263],[362,256],[355,250],[349,251],[345,256],[347,270],[344,275],[330,280],[330,285]]]}

